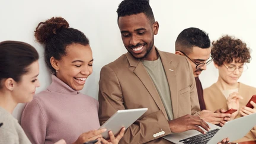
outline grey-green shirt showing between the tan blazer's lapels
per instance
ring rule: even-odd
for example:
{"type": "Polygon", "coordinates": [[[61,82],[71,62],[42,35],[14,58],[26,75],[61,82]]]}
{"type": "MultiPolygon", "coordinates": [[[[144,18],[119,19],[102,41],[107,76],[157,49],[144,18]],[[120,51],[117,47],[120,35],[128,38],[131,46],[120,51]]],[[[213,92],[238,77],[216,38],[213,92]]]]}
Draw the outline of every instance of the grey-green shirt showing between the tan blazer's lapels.
{"type": "Polygon", "coordinates": [[[172,113],[171,94],[169,91],[169,84],[165,75],[164,67],[161,59],[158,57],[157,60],[142,60],[143,65],[151,76],[153,84],[155,85],[159,96],[161,97],[162,103],[164,104],[165,110],[169,120],[173,120],[174,116],[172,113]]]}

